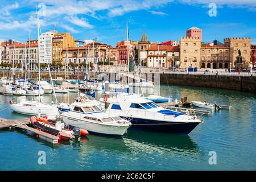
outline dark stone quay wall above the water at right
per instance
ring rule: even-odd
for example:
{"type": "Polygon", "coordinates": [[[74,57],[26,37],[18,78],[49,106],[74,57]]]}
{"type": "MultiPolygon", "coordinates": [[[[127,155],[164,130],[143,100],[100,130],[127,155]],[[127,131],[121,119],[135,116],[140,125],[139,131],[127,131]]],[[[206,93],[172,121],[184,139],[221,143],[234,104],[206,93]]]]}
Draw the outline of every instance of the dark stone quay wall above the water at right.
{"type": "Polygon", "coordinates": [[[200,86],[256,93],[256,77],[228,75],[187,75],[167,73],[160,75],[161,84],[200,86]]]}

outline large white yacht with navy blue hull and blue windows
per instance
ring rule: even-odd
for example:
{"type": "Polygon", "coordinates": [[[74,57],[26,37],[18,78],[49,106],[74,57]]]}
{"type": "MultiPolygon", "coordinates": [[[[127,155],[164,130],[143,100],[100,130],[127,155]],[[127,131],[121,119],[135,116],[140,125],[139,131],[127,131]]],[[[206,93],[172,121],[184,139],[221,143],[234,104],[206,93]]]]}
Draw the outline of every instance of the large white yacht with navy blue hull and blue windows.
{"type": "Polygon", "coordinates": [[[204,121],[197,118],[196,115],[164,109],[155,102],[142,98],[139,94],[106,96],[104,101],[109,103],[106,113],[129,119],[133,124],[131,128],[189,134],[199,123],[204,121]]]}

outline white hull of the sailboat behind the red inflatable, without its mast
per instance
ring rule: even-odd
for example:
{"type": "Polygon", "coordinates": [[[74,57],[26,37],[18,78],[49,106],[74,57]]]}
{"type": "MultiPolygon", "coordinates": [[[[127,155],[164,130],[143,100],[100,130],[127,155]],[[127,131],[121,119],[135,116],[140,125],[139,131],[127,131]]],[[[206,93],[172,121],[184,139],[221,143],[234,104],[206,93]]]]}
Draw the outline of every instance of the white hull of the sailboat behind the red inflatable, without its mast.
{"type": "Polygon", "coordinates": [[[18,104],[13,104],[10,101],[10,105],[11,109],[20,114],[38,115],[39,111],[41,115],[47,115],[48,117],[56,117],[59,114],[56,105],[44,104],[38,101],[22,100],[18,104]]]}

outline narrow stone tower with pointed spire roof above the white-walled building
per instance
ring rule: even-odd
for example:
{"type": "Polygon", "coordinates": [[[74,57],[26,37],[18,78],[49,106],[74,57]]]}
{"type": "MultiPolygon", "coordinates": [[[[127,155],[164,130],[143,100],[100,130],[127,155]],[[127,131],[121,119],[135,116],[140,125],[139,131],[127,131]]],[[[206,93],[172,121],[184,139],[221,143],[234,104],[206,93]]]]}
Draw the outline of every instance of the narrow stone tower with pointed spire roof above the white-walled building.
{"type": "Polygon", "coordinates": [[[150,47],[150,41],[147,39],[146,33],[143,33],[141,41],[138,43],[139,53],[138,59],[146,64],[147,61],[147,51],[150,47]]]}

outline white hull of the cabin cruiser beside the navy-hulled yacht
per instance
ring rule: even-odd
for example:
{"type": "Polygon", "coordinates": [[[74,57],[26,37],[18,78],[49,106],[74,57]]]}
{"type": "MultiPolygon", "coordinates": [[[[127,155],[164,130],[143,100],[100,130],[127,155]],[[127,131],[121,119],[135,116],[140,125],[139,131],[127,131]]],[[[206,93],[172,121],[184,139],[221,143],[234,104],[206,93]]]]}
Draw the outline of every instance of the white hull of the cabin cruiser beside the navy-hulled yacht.
{"type": "Polygon", "coordinates": [[[105,123],[95,123],[89,122],[85,119],[79,119],[75,117],[71,117],[68,113],[61,114],[63,117],[63,121],[68,125],[72,125],[75,127],[80,127],[81,129],[85,129],[89,132],[105,134],[105,135],[123,135],[126,133],[127,129],[130,125],[109,125],[105,123]]]}

